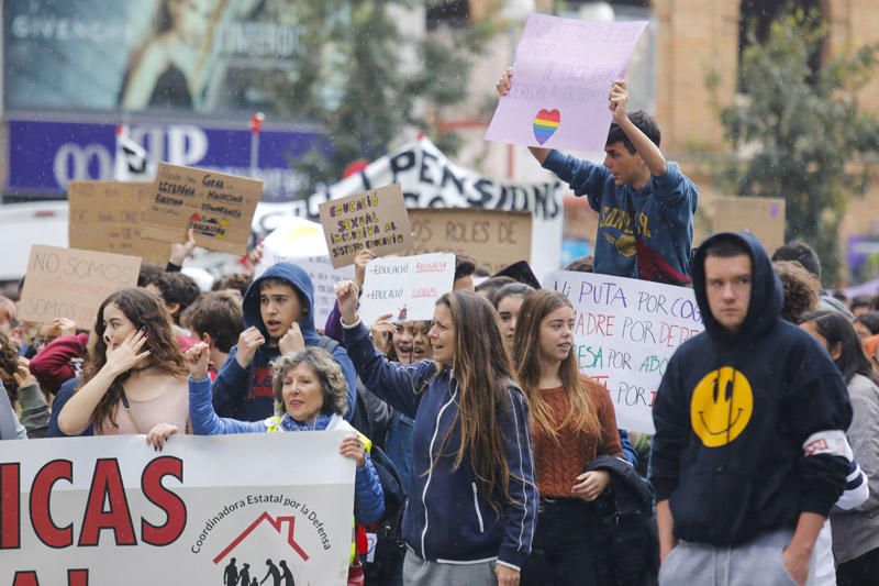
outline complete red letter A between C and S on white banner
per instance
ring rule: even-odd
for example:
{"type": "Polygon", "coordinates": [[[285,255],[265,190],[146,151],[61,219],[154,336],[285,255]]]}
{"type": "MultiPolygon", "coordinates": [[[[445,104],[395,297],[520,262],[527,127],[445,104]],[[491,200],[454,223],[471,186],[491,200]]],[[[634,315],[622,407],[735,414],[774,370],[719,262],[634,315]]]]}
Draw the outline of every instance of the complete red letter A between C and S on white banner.
{"type": "Polygon", "coordinates": [[[122,473],[115,458],[101,458],[94,463],[86,515],[82,518],[82,531],[79,533],[79,546],[97,546],[103,529],[113,531],[116,545],[137,544],[129,501],[125,498],[125,487],[122,484],[122,473]],[[104,501],[110,504],[110,509],[107,511],[103,510],[104,501]]]}

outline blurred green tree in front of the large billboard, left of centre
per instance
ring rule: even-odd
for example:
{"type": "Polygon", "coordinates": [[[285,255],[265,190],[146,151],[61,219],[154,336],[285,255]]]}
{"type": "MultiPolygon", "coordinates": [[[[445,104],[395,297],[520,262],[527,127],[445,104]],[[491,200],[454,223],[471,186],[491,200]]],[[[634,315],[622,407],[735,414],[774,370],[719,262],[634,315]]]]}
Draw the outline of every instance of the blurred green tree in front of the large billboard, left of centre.
{"type": "Polygon", "coordinates": [[[332,143],[329,156],[312,151],[296,163],[309,177],[303,196],[337,181],[349,163],[385,155],[405,129],[425,131],[449,152],[458,146],[436,122],[467,97],[470,59],[493,30],[470,23],[413,38],[398,22],[401,9],[429,2],[299,0],[280,16],[299,24],[303,48],[294,70],[264,80],[263,89],[279,114],[320,126],[332,143]]]}

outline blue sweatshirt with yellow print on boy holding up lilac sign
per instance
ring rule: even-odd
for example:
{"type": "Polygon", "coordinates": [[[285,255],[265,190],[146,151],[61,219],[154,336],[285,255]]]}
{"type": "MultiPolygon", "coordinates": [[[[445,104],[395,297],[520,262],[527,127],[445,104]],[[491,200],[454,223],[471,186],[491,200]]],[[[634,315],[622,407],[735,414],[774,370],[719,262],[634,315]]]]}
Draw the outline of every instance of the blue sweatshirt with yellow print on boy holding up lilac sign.
{"type": "Polygon", "coordinates": [[[650,177],[637,190],[615,185],[607,167],[558,151],[552,151],[543,166],[567,183],[575,196],[587,196],[589,206],[598,212],[596,273],[643,278],[635,255],[635,240],[639,237],[658,257],[654,262],[665,261],[668,269],[689,276],[699,191],[677,163],[669,161],[665,175],[650,177]]]}

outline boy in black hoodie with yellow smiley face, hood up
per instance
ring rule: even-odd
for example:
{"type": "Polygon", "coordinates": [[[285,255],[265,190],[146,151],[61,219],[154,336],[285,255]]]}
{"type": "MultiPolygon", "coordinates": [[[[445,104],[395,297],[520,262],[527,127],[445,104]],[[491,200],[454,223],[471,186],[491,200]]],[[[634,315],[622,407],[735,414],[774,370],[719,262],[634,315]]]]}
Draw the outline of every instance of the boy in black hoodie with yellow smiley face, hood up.
{"type": "Polygon", "coordinates": [[[782,287],[750,234],[692,265],[705,331],[669,361],[653,409],[659,584],[805,584],[846,484],[845,382],[780,318],[782,287]]]}

